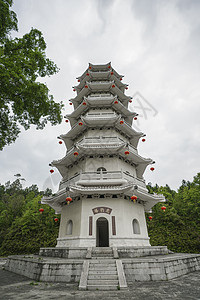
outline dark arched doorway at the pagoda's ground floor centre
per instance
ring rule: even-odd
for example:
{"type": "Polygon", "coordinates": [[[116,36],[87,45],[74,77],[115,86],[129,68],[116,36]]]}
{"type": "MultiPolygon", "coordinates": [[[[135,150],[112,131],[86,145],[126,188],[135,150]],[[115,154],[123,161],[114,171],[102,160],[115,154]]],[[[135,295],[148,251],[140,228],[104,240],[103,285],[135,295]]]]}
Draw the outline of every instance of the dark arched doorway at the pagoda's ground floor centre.
{"type": "Polygon", "coordinates": [[[96,246],[109,247],[108,220],[103,217],[96,222],[96,246]]]}

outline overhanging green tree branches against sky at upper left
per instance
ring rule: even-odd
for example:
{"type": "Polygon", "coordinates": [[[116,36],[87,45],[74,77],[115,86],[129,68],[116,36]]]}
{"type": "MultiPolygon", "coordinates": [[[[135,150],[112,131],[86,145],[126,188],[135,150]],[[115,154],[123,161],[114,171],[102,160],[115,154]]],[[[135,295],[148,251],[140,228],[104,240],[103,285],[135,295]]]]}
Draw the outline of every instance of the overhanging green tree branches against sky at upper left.
{"type": "Polygon", "coordinates": [[[16,140],[20,125],[42,129],[49,121],[61,123],[62,102],[56,103],[39,77],[58,72],[46,57],[46,43],[37,29],[22,38],[11,38],[17,30],[12,0],[0,0],[0,150],[16,140]]]}

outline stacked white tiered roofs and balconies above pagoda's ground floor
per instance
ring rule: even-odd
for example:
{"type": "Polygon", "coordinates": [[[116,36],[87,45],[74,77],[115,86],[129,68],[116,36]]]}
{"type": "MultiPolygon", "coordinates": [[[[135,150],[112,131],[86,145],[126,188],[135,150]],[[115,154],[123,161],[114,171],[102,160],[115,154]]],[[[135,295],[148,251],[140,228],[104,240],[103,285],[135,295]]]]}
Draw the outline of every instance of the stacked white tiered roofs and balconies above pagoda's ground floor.
{"type": "Polygon", "coordinates": [[[56,167],[63,179],[56,195],[43,198],[57,212],[61,211],[66,193],[72,198],[88,195],[117,195],[130,200],[134,193],[138,203],[144,205],[146,211],[160,201],[165,201],[162,195],[149,194],[143,174],[150,158],[138,154],[137,146],[145,134],[137,132],[133,127],[133,118],[138,114],[128,109],[131,97],[124,94],[127,84],[122,83],[123,76],[118,74],[111,63],[104,65],[89,64],[87,70],[77,77],[79,84],[74,86],[76,97],[70,99],[74,111],[66,115],[71,124],[71,130],[60,135],[67,148],[65,157],[51,163],[56,167]],[[109,137],[97,134],[90,137],[91,130],[112,129],[116,132],[109,137]],[[75,155],[76,154],[76,155],[75,155]],[[133,166],[136,175],[122,170],[107,172],[82,172],[69,177],[68,171],[73,165],[91,157],[115,157],[133,166]]]}

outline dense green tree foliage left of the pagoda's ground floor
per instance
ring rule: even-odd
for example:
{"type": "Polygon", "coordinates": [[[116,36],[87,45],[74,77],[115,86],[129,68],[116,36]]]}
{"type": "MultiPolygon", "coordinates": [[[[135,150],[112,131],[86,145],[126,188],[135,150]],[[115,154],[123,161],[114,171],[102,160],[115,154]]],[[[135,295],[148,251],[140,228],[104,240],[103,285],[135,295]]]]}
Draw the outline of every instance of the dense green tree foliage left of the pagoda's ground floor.
{"type": "Polygon", "coordinates": [[[22,189],[19,179],[0,186],[0,255],[36,253],[56,245],[59,224],[54,210],[40,204],[44,194],[36,185],[22,189]]]}

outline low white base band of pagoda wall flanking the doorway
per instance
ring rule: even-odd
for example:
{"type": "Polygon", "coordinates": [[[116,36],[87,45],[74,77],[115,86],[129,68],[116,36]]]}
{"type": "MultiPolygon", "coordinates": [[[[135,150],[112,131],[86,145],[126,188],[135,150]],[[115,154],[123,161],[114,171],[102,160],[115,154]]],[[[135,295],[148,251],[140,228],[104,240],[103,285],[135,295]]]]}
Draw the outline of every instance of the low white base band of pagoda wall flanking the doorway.
{"type": "MultiPolygon", "coordinates": [[[[96,238],[64,237],[57,239],[57,248],[63,247],[96,247],[96,238]]],[[[108,247],[145,247],[151,246],[147,238],[110,237],[108,247]]]]}

